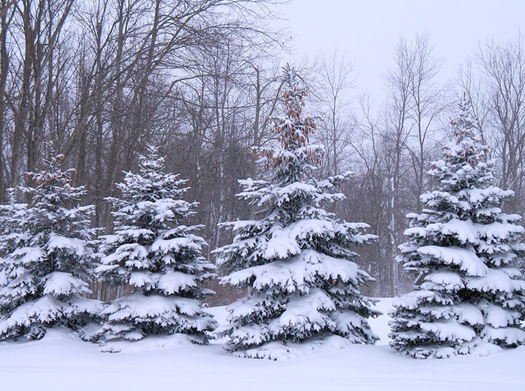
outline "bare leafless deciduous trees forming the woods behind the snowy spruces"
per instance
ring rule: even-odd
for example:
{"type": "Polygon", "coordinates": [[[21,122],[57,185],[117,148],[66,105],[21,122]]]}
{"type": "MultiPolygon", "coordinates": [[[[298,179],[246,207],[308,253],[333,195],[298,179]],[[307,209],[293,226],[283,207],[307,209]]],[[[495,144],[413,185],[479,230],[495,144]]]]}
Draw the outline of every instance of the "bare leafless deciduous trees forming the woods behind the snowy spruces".
{"type": "MultiPolygon", "coordinates": [[[[0,201],[57,151],[87,186],[93,226],[110,232],[104,198],[116,195],[114,183],[153,143],[166,169],[188,179],[208,254],[231,240],[217,223],[256,212],[234,196],[237,180],[264,176],[251,147],[275,142],[268,125],[282,110],[290,34],[276,28],[279,3],[0,0],[0,201]]],[[[440,157],[463,92],[498,164],[499,186],[516,192],[508,210],[523,214],[525,201],[523,38],[481,43],[448,84],[438,81],[442,61],[427,36],[400,39],[392,53],[384,96],[355,94],[350,56],[296,64],[309,86],[308,114],[323,119],[311,140],[326,147],[317,174],[355,173],[334,211],[370,224],[380,238],[358,250],[375,296],[414,282],[395,261],[404,216],[422,208],[430,161],[440,157]]],[[[97,290],[104,299],[105,287],[97,290]]],[[[217,302],[229,301],[217,290],[217,302]]]]}

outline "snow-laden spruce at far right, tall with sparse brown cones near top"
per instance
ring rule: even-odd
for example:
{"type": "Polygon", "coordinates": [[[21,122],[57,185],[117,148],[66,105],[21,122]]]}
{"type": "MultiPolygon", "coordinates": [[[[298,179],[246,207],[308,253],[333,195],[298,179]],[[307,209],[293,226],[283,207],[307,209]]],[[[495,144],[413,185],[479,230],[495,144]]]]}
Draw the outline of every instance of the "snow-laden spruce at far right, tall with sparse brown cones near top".
{"type": "Polygon", "coordinates": [[[429,174],[436,191],[422,194],[422,213],[409,213],[408,241],[400,246],[406,270],[419,273],[416,291],[393,301],[391,346],[416,358],[488,354],[525,341],[524,282],[511,267],[525,246],[517,214],[501,211],[510,190],[493,186],[470,101],[451,121],[455,141],[429,174]]]}

